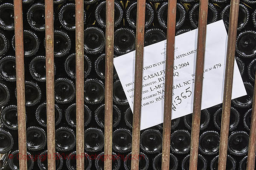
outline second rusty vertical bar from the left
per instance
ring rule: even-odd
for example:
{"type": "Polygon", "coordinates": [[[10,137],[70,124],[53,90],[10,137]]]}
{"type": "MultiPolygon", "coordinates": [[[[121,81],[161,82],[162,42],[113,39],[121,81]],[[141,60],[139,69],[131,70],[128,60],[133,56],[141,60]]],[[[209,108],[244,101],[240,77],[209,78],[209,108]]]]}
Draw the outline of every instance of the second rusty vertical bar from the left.
{"type": "Polygon", "coordinates": [[[55,107],[54,107],[54,54],[53,54],[53,0],[45,0],[46,46],[46,101],[47,101],[47,154],[48,167],[55,170],[55,107]]]}

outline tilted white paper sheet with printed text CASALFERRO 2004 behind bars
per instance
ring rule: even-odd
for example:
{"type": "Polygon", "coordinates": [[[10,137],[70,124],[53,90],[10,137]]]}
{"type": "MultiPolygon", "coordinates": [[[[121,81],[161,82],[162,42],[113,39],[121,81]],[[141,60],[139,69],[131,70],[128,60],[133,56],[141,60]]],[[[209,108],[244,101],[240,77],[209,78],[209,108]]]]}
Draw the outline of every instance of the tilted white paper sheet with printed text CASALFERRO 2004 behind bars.
{"type": "MultiPolygon", "coordinates": [[[[172,119],[192,113],[198,29],[175,37],[172,119]]],[[[227,32],[223,20],[207,25],[201,109],[223,101],[227,32]]],[[[144,48],[141,125],[163,123],[166,40],[144,48]]],[[[114,58],[114,66],[133,111],[135,51],[114,58]]],[[[246,95],[235,61],[232,99],[246,95]]]]}

